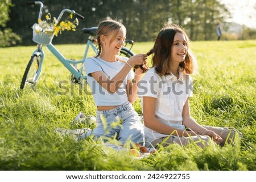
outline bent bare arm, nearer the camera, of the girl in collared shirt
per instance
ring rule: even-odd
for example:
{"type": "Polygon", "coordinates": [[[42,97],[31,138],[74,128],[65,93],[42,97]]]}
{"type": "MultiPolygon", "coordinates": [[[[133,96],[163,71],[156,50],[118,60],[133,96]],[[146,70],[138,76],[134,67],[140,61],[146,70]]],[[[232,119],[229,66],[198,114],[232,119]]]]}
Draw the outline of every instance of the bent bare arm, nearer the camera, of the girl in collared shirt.
{"type": "Polygon", "coordinates": [[[172,133],[175,136],[179,136],[179,137],[182,137],[182,136],[188,137],[188,136],[195,135],[193,132],[175,129],[170,125],[164,124],[163,122],[158,120],[158,118],[155,117],[155,103],[156,103],[156,98],[147,97],[147,96],[143,97],[143,118],[144,118],[144,125],[147,128],[150,128],[162,134],[172,133]]]}

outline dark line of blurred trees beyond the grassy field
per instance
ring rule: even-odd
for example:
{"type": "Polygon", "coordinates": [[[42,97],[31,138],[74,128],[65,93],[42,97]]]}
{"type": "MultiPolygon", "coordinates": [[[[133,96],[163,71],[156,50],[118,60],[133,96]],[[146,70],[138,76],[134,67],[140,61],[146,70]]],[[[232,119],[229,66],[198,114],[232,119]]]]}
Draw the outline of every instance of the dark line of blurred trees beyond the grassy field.
{"type": "MultiPolygon", "coordinates": [[[[6,0],[1,0],[6,1],[6,0]]],[[[76,32],[63,32],[55,44],[85,43],[84,27],[95,27],[107,17],[118,20],[127,28],[127,39],[154,41],[159,29],[167,23],[184,27],[191,40],[216,40],[216,24],[230,16],[217,0],[44,0],[42,19],[50,12],[59,15],[63,9],[75,10],[85,19],[79,20],[76,32]]],[[[12,1],[6,27],[22,38],[22,45],[32,42],[32,25],[38,21],[39,6],[27,6],[27,0],[12,1]]]]}

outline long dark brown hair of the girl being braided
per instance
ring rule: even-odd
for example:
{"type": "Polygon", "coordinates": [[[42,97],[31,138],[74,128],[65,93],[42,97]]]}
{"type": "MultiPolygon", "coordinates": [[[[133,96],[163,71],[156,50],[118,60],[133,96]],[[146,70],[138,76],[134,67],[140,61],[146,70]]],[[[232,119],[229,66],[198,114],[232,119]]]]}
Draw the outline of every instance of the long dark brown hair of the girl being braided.
{"type": "Polygon", "coordinates": [[[171,47],[174,44],[174,36],[179,32],[185,36],[187,41],[188,53],[185,56],[185,60],[180,62],[179,66],[184,73],[192,74],[195,69],[195,57],[193,56],[191,50],[189,50],[189,38],[184,29],[177,24],[172,24],[171,26],[163,27],[158,36],[156,37],[155,44],[153,48],[147,53],[148,55],[153,54],[152,66],[155,67],[156,73],[159,75],[170,74],[170,57],[171,57],[171,47]]]}

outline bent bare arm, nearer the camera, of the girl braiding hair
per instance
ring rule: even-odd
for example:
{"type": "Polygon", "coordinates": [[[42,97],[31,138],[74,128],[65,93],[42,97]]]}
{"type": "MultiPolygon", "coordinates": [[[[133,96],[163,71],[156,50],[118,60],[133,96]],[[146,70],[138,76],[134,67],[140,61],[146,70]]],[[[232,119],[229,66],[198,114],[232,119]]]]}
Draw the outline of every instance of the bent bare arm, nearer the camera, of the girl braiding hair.
{"type": "MultiPolygon", "coordinates": [[[[142,65],[146,58],[147,54],[137,54],[131,57],[127,62],[132,66],[142,65]]],[[[91,75],[103,88],[114,94],[123,83],[130,70],[131,67],[125,64],[125,66],[123,66],[123,68],[112,79],[109,79],[102,71],[96,71],[91,73],[91,75]]]]}

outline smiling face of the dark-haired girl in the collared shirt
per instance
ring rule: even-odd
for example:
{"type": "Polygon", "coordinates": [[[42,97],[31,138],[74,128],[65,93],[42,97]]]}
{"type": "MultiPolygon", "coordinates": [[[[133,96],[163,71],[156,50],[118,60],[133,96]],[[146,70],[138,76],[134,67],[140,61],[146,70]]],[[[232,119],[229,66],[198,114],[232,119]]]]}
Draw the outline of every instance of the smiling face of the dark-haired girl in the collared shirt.
{"type": "Polygon", "coordinates": [[[180,62],[184,61],[185,57],[187,56],[187,52],[187,40],[182,33],[177,32],[174,36],[174,43],[171,46],[172,64],[179,64],[180,62]]]}

